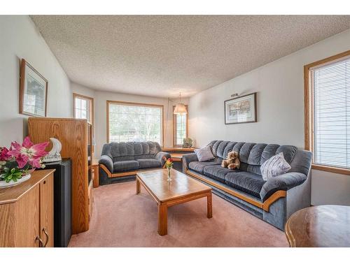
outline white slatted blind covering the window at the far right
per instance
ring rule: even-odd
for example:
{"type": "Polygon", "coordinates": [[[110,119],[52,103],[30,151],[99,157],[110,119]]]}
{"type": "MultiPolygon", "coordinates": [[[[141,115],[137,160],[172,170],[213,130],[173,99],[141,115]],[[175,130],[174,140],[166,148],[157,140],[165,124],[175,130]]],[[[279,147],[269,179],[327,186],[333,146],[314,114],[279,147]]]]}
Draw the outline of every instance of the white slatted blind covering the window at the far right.
{"type": "Polygon", "coordinates": [[[350,168],[350,57],[310,69],[314,163],[350,168]]]}

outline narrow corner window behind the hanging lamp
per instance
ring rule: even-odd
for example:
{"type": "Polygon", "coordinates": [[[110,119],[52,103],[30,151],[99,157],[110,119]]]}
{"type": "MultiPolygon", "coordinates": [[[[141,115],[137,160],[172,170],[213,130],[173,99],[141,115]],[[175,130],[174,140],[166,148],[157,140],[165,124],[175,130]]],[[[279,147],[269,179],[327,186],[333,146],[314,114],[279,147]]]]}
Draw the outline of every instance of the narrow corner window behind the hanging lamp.
{"type": "MultiPolygon", "coordinates": [[[[188,112],[188,106],[186,106],[186,110],[188,112]]],[[[175,105],[173,107],[173,112],[175,109],[175,105]]],[[[183,144],[183,138],[188,137],[188,113],[187,114],[174,114],[173,115],[173,145],[174,147],[180,147],[183,144]]]]}

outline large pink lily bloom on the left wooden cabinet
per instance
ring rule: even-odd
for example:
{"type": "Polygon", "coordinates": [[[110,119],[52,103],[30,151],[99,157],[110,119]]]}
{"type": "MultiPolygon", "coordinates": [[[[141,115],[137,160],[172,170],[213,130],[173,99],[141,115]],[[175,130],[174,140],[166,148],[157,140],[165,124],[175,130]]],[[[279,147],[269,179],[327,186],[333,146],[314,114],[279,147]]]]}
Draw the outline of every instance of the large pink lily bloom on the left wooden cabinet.
{"type": "Polygon", "coordinates": [[[41,168],[41,157],[44,157],[48,152],[45,152],[45,147],[48,146],[48,142],[34,145],[31,143],[29,136],[23,140],[22,145],[17,142],[13,142],[11,147],[14,150],[10,150],[8,154],[15,157],[19,168],[23,168],[27,163],[34,168],[41,168]]]}

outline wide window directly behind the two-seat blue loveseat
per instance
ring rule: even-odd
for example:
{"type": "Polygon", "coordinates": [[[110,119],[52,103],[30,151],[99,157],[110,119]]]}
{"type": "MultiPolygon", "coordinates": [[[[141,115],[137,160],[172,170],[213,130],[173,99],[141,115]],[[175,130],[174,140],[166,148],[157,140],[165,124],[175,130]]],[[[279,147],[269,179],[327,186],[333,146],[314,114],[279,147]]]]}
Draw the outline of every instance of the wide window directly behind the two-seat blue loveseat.
{"type": "Polygon", "coordinates": [[[163,106],[107,101],[109,142],[153,141],[162,145],[163,106]]]}

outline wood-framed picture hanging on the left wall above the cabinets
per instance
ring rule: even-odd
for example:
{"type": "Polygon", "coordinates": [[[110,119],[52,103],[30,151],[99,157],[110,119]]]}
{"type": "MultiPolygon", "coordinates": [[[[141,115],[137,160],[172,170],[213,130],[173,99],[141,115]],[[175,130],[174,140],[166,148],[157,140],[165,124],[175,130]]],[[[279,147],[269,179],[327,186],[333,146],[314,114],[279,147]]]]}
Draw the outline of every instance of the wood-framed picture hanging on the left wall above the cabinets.
{"type": "Polygon", "coordinates": [[[20,114],[46,117],[48,80],[22,59],[20,68],[20,114]]]}

